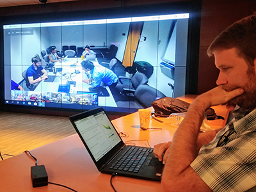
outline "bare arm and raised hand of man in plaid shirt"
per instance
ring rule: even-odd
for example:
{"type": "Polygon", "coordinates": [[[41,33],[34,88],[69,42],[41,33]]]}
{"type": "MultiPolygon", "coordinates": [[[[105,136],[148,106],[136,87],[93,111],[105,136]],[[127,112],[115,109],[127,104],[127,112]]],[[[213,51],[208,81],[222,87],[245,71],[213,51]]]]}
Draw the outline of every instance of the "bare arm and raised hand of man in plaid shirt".
{"type": "Polygon", "coordinates": [[[209,138],[207,138],[206,134],[202,138],[198,136],[205,109],[219,104],[227,104],[230,99],[243,92],[241,88],[227,92],[218,86],[198,96],[189,106],[184,120],[173,136],[164,166],[161,182],[164,191],[211,191],[190,166],[198,156],[198,147],[206,144],[212,138],[211,135],[208,135],[209,138]]]}

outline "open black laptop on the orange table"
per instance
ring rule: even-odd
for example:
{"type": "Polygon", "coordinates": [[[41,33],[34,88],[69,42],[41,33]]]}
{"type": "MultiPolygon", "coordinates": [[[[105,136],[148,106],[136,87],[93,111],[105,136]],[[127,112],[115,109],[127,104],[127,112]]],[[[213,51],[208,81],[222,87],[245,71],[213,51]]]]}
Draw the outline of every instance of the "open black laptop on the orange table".
{"type": "Polygon", "coordinates": [[[102,107],[69,119],[99,172],[161,180],[164,165],[154,156],[153,149],[125,145],[102,107]]]}

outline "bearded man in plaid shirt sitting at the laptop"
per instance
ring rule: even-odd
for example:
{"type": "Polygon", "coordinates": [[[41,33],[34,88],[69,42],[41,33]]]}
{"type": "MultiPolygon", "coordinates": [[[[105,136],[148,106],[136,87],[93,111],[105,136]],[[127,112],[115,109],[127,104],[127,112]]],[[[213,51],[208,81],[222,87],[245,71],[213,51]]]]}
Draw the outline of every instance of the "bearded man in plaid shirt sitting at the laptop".
{"type": "Polygon", "coordinates": [[[220,70],[218,86],[192,102],[172,143],[154,147],[165,164],[164,191],[256,191],[255,46],[256,14],[229,26],[208,48],[220,70]],[[200,132],[205,109],[219,104],[234,119],[223,128],[200,132]]]}

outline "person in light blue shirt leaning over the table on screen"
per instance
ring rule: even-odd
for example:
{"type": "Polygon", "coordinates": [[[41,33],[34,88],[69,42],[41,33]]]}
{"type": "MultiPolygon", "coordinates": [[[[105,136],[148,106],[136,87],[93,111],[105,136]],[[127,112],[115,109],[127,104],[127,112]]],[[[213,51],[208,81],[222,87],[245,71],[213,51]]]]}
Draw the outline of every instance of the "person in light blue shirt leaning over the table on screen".
{"type": "Polygon", "coordinates": [[[106,67],[95,67],[92,61],[82,61],[81,65],[84,72],[89,73],[89,79],[83,79],[84,83],[88,83],[91,86],[98,87],[103,82],[108,86],[115,87],[118,83],[118,77],[116,74],[106,67]]]}

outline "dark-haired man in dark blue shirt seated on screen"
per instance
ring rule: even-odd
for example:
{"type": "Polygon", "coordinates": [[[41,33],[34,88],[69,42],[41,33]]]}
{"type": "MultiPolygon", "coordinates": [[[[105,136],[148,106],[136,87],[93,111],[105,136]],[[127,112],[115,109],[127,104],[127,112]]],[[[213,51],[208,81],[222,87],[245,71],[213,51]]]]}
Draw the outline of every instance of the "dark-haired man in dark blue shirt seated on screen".
{"type": "Polygon", "coordinates": [[[41,59],[34,57],[31,59],[32,65],[27,70],[28,81],[35,84],[48,78],[47,71],[41,66],[41,59]]]}

